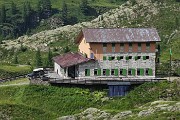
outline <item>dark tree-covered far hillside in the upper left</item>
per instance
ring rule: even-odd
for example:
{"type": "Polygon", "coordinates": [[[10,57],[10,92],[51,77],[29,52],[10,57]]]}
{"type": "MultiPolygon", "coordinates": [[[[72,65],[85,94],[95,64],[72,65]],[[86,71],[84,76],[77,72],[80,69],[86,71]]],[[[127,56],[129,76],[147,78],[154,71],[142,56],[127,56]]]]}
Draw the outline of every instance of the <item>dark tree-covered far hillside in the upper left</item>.
{"type": "Polygon", "coordinates": [[[124,0],[0,0],[0,43],[22,35],[90,21],[124,0]]]}

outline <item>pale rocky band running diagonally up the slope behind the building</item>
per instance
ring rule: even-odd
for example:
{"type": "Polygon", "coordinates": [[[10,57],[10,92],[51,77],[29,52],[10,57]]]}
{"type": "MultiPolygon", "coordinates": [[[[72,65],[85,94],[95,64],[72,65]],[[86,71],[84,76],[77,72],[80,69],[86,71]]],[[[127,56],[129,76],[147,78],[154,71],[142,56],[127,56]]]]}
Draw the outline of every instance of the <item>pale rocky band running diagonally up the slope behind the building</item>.
{"type": "MultiPolygon", "coordinates": [[[[106,12],[90,22],[82,22],[75,25],[59,27],[54,30],[46,30],[32,36],[22,36],[13,41],[6,40],[4,46],[6,48],[11,48],[12,46],[18,48],[20,44],[23,43],[24,46],[29,48],[40,48],[42,51],[45,51],[48,50],[47,45],[51,42],[64,39],[73,42],[82,28],[126,27],[123,26],[121,22],[117,21],[128,20],[128,23],[131,24],[131,20],[143,16],[145,17],[144,22],[147,22],[151,16],[156,15],[159,12],[157,4],[152,3],[151,0],[136,0],[136,2],[137,4],[135,5],[132,5],[130,2],[126,2],[118,8],[106,12]]],[[[144,26],[143,23],[141,26],[144,26]]]]}

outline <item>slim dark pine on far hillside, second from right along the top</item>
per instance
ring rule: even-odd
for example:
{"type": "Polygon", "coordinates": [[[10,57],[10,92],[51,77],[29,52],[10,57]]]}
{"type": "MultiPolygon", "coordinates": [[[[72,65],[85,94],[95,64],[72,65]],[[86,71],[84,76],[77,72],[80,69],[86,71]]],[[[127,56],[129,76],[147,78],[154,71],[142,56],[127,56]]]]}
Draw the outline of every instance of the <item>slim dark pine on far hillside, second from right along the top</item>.
{"type": "Polygon", "coordinates": [[[67,15],[68,15],[68,9],[67,9],[67,4],[65,1],[63,1],[63,4],[62,4],[62,20],[64,22],[64,24],[67,24],[67,15]]]}

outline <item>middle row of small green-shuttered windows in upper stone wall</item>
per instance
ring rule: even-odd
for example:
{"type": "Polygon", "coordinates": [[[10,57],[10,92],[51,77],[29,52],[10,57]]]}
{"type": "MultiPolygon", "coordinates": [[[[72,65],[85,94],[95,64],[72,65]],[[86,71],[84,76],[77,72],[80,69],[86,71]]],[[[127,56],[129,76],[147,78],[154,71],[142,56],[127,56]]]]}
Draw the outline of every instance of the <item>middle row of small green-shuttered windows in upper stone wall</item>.
{"type": "MultiPolygon", "coordinates": [[[[135,56],[134,60],[139,60],[141,58],[143,58],[143,60],[147,60],[147,59],[149,59],[149,56],[135,56]]],[[[111,60],[123,60],[123,59],[124,59],[124,56],[117,56],[117,57],[115,57],[115,56],[109,56],[109,57],[103,56],[103,60],[110,60],[111,61],[111,60]]],[[[133,57],[132,56],[126,56],[125,59],[130,60],[130,59],[133,59],[133,57]]]]}

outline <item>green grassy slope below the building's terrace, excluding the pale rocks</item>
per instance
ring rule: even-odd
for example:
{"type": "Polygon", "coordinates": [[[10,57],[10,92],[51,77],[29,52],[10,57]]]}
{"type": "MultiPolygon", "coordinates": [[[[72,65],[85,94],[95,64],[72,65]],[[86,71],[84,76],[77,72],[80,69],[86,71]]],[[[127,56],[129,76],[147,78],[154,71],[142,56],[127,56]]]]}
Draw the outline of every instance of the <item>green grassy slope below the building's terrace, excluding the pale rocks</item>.
{"type": "Polygon", "coordinates": [[[106,102],[99,99],[102,96],[101,92],[92,93],[87,89],[53,86],[1,87],[0,111],[13,119],[30,119],[32,117],[35,120],[54,119],[63,115],[75,114],[88,107],[117,113],[136,109],[162,97],[167,98],[169,90],[171,93],[176,93],[170,100],[179,101],[179,87],[177,84],[168,82],[147,83],[137,87],[126,97],[118,97],[106,102]]]}

